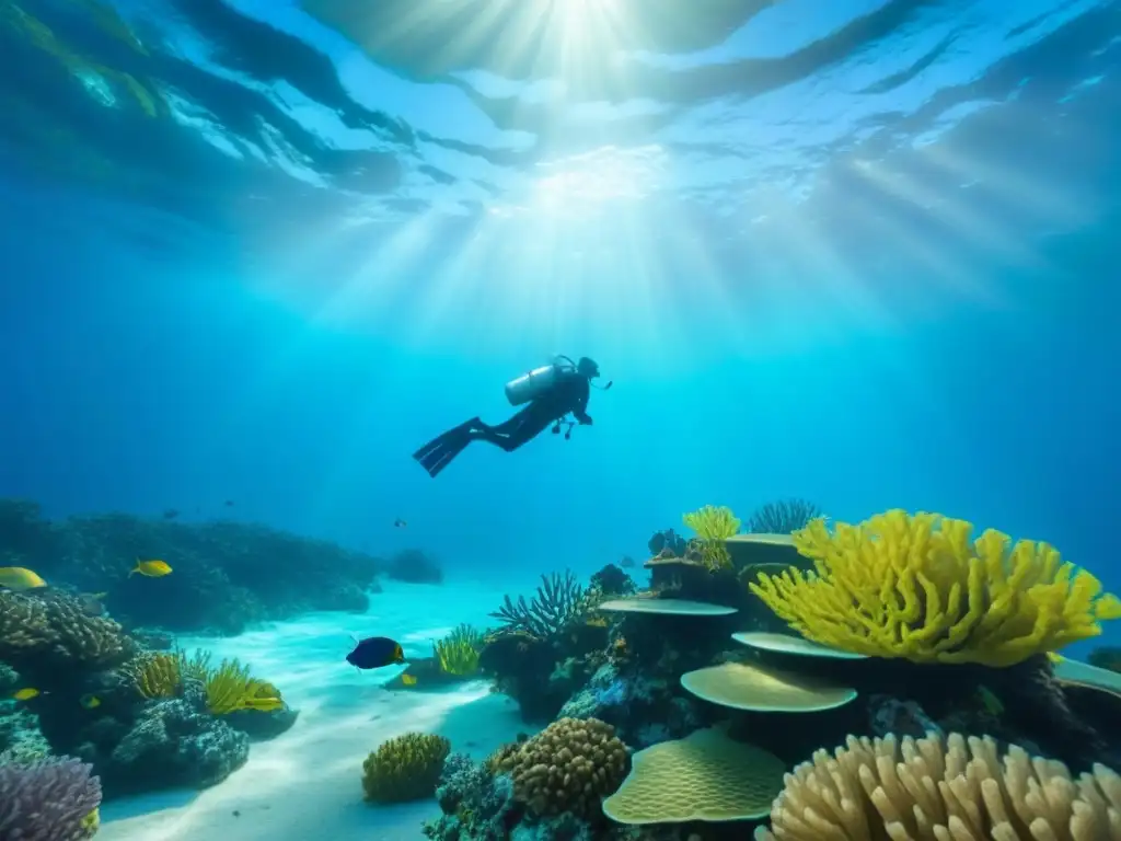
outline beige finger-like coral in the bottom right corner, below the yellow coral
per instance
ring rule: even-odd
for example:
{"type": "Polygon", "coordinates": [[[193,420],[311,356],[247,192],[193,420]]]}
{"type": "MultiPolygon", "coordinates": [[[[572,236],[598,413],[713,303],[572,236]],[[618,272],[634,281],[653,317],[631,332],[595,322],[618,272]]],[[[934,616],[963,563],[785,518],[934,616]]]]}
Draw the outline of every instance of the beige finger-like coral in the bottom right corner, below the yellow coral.
{"type": "Polygon", "coordinates": [[[1012,746],[953,733],[901,741],[849,737],[786,775],[758,841],[1119,841],[1121,777],[1066,766],[1012,746]]]}

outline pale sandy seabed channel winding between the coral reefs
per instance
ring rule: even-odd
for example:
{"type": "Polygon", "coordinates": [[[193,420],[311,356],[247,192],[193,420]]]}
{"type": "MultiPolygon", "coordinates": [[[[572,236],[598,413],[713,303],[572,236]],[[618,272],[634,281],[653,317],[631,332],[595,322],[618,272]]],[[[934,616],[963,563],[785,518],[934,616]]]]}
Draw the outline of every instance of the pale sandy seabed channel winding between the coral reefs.
{"type": "MultiPolygon", "coordinates": [[[[453,751],[480,758],[527,726],[516,704],[483,682],[442,692],[388,691],[401,668],[359,672],[343,659],[349,635],[390,636],[406,655],[429,656],[432,640],[458,622],[493,625],[501,592],[447,583],[390,583],[370,613],[316,613],[228,639],[183,638],[188,650],[239,657],[298,709],[296,724],[254,742],[249,761],[212,788],[114,800],[102,806],[99,841],[413,841],[439,813],[435,801],[373,806],[362,801],[362,760],[409,730],[439,733],[453,751]],[[238,813],[237,815],[234,813],[238,813]]],[[[417,690],[420,687],[418,686],[417,690]]]]}

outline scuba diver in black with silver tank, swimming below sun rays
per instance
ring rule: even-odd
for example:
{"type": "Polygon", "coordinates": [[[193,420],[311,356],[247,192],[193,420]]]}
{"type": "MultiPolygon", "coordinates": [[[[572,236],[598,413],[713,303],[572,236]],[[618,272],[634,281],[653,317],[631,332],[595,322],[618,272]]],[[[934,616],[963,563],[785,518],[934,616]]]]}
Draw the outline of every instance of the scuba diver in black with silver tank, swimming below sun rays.
{"type": "MultiPolygon", "coordinates": [[[[580,362],[573,362],[568,357],[557,357],[553,364],[536,368],[506,383],[506,399],[511,406],[528,403],[509,420],[491,426],[473,417],[433,438],[413,453],[413,458],[435,479],[472,441],[485,441],[512,453],[527,441],[537,437],[549,424],[553,424],[554,435],[558,435],[560,427],[567,425],[564,435],[567,441],[577,424],[592,425],[592,416],[587,414],[587,398],[592,380],[599,376],[600,367],[587,357],[582,357],[580,362]],[[565,419],[569,412],[575,420],[565,419]]],[[[613,382],[608,382],[600,390],[606,391],[612,385],[613,382]]]]}

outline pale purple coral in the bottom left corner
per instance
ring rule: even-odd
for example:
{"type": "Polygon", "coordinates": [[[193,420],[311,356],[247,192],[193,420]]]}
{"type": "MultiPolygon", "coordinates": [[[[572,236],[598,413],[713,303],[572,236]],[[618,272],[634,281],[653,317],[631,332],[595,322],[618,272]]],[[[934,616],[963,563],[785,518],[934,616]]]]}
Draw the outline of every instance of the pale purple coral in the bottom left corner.
{"type": "Polygon", "coordinates": [[[98,831],[101,783],[76,759],[0,765],[0,839],[81,841],[98,831]]]}

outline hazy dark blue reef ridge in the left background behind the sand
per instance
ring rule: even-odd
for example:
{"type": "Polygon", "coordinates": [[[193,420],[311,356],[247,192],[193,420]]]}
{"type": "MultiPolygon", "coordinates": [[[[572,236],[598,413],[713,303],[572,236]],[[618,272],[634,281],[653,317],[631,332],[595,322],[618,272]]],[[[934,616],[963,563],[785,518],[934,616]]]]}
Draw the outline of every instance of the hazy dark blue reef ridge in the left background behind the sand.
{"type": "Polygon", "coordinates": [[[0,500],[0,526],[6,563],[83,591],[108,592],[105,607],[126,627],[237,634],[258,619],[361,611],[380,566],[369,555],[324,540],[232,521],[124,514],[49,521],[33,503],[0,500]],[[137,556],[164,558],[174,573],[128,577],[137,556]]]}

